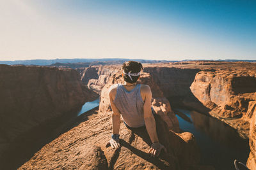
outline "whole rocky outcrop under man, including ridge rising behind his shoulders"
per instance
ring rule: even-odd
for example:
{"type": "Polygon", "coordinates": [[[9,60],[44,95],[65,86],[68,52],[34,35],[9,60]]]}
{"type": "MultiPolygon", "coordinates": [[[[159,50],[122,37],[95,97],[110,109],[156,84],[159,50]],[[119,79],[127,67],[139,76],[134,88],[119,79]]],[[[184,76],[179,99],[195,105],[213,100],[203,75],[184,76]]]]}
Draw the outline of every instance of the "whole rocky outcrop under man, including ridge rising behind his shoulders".
{"type": "Polygon", "coordinates": [[[122,147],[118,150],[106,148],[112,129],[108,90],[113,83],[121,83],[121,77],[120,73],[109,77],[100,95],[99,111],[92,110],[81,115],[79,125],[45,145],[19,169],[86,169],[86,166],[100,169],[100,165],[102,169],[211,169],[198,165],[198,148],[193,134],[174,132],[178,125],[177,119],[171,120],[174,122],[170,124],[170,117],[174,115],[170,104],[148,73],[141,74],[140,83],[147,82],[152,89],[152,104],[157,113],[157,134],[168,153],[163,152],[158,158],[150,157],[147,153],[150,139],[146,129],[131,131],[124,124],[120,127],[122,147]]]}

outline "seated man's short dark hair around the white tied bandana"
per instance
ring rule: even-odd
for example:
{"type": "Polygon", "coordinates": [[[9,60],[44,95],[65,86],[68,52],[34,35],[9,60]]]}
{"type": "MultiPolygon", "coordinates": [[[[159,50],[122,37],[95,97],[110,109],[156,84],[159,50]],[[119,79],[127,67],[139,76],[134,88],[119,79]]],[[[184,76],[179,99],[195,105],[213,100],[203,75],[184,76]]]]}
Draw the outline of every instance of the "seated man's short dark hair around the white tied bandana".
{"type": "MultiPolygon", "coordinates": [[[[138,73],[143,69],[143,67],[140,62],[131,60],[129,62],[124,62],[122,69],[124,70],[125,73],[129,73],[129,71],[131,71],[131,73],[138,73]]],[[[135,83],[140,76],[131,76],[131,77],[132,77],[132,80],[127,74],[124,74],[124,81],[128,83],[135,83]]]]}

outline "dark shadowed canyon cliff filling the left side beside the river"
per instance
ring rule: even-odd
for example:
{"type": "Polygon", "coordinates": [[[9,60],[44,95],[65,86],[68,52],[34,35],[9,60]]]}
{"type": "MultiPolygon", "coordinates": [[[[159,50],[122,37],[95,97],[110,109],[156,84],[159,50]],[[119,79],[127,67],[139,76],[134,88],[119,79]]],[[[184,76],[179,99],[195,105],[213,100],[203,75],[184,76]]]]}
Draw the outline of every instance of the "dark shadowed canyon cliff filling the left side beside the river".
{"type": "MultiPolygon", "coordinates": [[[[0,79],[1,165],[6,161],[3,157],[8,159],[8,151],[26,132],[97,96],[81,83],[73,69],[0,65],[0,79]]],[[[8,164],[13,163],[8,160],[8,164]]]]}

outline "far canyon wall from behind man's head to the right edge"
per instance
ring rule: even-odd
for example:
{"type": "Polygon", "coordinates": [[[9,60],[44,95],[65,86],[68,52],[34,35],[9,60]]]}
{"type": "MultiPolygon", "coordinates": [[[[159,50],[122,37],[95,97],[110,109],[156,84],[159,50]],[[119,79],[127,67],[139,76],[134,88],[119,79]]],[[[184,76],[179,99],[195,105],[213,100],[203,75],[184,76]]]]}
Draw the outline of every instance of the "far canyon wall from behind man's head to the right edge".
{"type": "MultiPolygon", "coordinates": [[[[246,111],[248,103],[256,100],[256,64],[186,62],[143,66],[143,72],[150,73],[172,107],[212,115],[234,127],[241,137],[249,137],[250,116],[246,111]]],[[[90,89],[100,92],[111,74],[121,73],[121,67],[91,67],[84,71],[82,79],[90,89]],[[95,77],[89,80],[92,72],[95,77]]]]}

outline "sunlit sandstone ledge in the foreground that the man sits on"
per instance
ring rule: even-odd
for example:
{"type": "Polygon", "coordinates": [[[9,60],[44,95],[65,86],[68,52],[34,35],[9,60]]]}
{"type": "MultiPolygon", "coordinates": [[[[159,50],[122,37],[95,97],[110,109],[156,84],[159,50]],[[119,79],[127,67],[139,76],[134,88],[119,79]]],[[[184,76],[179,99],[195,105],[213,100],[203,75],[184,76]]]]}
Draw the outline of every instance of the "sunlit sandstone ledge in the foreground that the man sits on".
{"type": "Polygon", "coordinates": [[[152,158],[147,153],[150,139],[146,129],[131,131],[124,124],[120,127],[122,147],[119,150],[106,148],[106,143],[111,138],[111,112],[99,112],[45,145],[19,169],[104,167],[103,155],[96,157],[99,154],[95,153],[88,157],[88,153],[94,153],[93,145],[104,151],[110,169],[190,169],[191,166],[198,166],[198,150],[193,135],[186,132],[179,136],[168,131],[166,124],[158,116],[156,122],[159,139],[168,150],[168,153],[161,153],[159,158],[152,158]],[[91,157],[95,157],[93,161],[91,157]]]}

